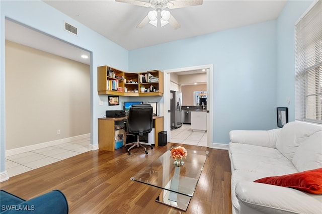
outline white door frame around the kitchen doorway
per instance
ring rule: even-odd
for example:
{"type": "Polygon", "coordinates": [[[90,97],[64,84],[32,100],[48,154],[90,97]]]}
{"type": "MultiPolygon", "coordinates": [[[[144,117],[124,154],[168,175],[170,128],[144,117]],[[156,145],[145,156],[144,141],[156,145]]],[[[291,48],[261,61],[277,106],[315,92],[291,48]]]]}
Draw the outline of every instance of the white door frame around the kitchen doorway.
{"type": "Polygon", "coordinates": [[[213,148],[213,64],[199,65],[185,68],[175,68],[164,70],[164,130],[169,133],[167,135],[167,141],[171,139],[170,128],[170,74],[184,71],[202,70],[206,69],[207,72],[207,145],[209,148],[213,148]]]}

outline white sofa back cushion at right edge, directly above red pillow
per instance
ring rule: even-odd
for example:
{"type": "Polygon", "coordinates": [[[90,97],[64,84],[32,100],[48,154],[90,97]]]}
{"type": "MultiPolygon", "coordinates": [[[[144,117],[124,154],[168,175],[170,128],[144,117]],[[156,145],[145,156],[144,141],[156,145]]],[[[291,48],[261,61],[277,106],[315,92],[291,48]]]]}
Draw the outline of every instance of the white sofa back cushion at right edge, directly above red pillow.
{"type": "Polygon", "coordinates": [[[322,167],[322,131],[314,133],[299,145],[292,162],[300,172],[322,167]]]}

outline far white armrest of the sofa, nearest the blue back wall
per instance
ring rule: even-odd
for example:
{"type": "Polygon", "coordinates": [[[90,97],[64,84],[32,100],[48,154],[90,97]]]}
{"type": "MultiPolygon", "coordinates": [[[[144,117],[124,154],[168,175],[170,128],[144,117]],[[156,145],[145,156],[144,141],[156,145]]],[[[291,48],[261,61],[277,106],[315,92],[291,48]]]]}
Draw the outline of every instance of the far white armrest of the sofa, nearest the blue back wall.
{"type": "Polygon", "coordinates": [[[251,144],[276,148],[276,141],[281,129],[272,130],[232,130],[229,132],[231,143],[251,144]]]}

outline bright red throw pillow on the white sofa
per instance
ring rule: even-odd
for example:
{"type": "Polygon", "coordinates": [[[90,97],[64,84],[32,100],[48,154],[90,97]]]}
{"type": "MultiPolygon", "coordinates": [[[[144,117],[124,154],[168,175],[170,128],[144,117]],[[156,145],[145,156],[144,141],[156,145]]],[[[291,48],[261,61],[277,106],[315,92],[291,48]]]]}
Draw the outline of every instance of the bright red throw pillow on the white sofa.
{"type": "Polygon", "coordinates": [[[288,175],[265,177],[254,182],[290,187],[312,194],[322,194],[322,168],[288,175]]]}

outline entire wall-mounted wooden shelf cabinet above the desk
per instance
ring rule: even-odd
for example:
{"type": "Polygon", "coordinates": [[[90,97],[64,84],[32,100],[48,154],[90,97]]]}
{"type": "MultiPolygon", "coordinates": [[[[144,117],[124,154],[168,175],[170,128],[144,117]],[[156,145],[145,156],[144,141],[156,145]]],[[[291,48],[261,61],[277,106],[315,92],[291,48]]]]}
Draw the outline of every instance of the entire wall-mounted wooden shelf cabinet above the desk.
{"type": "Polygon", "coordinates": [[[120,96],[163,96],[163,72],[159,70],[130,73],[107,65],[97,68],[99,94],[120,96]],[[145,87],[141,92],[140,87],[145,87]]]}

